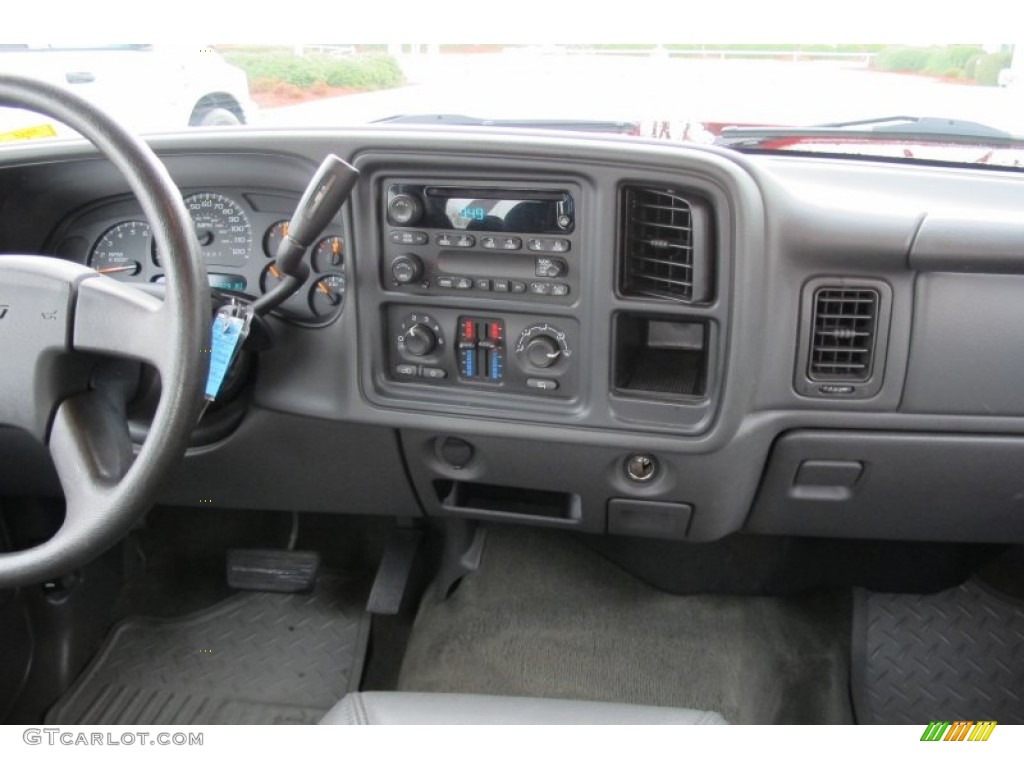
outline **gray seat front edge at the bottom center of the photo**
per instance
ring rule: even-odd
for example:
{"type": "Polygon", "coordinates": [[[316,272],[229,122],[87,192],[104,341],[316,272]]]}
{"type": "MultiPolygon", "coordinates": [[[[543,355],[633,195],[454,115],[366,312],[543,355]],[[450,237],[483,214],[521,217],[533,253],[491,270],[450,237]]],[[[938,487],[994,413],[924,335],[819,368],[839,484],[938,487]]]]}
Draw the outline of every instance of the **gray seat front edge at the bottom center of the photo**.
{"type": "Polygon", "coordinates": [[[349,693],[321,725],[725,725],[716,712],[463,693],[349,693]]]}

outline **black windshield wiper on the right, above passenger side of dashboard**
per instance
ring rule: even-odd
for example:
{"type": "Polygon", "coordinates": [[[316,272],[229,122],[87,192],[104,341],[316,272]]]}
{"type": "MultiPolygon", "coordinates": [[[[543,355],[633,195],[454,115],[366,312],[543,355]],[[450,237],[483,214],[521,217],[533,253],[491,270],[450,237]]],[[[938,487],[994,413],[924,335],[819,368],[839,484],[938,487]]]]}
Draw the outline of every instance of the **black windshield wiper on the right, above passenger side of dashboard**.
{"type": "Polygon", "coordinates": [[[784,148],[803,139],[854,141],[923,141],[972,146],[1024,146],[1024,138],[1007,131],[950,118],[894,116],[801,127],[735,127],[722,129],[715,143],[734,150],[784,148]],[[779,142],[785,142],[780,144],[779,142]]]}

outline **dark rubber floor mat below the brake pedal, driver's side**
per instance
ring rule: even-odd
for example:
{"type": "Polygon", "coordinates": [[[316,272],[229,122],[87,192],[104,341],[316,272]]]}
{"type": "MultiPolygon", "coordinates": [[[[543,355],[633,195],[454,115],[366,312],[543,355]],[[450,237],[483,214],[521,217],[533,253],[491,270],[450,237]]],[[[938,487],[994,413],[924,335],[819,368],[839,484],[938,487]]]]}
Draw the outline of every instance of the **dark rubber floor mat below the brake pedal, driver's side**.
{"type": "Polygon", "coordinates": [[[175,620],[129,618],[46,721],[65,725],[315,723],[359,682],[370,616],[353,582],[240,593],[175,620]]]}

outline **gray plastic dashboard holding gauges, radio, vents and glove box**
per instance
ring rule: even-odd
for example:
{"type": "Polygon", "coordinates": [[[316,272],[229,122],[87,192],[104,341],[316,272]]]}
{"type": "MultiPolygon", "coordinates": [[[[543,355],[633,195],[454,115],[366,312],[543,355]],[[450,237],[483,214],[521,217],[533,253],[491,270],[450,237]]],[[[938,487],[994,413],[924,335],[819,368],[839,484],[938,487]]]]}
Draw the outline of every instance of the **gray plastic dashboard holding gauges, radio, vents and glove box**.
{"type": "MultiPolygon", "coordinates": [[[[152,143],[225,295],[272,288],[326,154],[360,172],[164,503],[1024,541],[1017,173],[470,129],[152,143]]],[[[162,274],[84,144],[0,156],[0,247],[162,274]]],[[[41,446],[0,454],[0,493],[54,493],[41,446]]]]}

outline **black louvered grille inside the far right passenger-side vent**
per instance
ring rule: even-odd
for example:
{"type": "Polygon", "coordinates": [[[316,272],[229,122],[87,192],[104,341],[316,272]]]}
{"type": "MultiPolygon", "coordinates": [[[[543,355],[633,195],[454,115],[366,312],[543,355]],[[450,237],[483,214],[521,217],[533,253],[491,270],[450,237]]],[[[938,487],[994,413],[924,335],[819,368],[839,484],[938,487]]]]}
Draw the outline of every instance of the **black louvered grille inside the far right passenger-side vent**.
{"type": "Polygon", "coordinates": [[[808,376],[813,381],[862,382],[871,376],[879,294],[866,288],[814,292],[808,376]]]}

